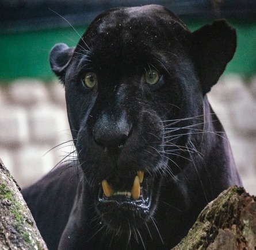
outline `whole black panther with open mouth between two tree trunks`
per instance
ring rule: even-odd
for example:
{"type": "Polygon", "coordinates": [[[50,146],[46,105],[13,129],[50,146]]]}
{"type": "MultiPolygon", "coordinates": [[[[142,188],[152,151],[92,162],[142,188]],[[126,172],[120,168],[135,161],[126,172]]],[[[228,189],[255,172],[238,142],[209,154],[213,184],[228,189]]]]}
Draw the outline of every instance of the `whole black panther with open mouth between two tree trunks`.
{"type": "Polygon", "coordinates": [[[157,5],[105,11],[76,48],[54,46],[77,160],[23,191],[49,249],[170,249],[242,185],[207,100],[235,49],[226,21],[190,32],[157,5]]]}

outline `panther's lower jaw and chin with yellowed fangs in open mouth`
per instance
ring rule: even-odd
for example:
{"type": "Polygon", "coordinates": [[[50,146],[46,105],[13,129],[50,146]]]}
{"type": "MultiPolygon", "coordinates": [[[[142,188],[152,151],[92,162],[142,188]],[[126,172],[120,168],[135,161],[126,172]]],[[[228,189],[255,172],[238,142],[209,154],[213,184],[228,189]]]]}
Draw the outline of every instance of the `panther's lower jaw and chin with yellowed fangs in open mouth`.
{"type": "Polygon", "coordinates": [[[97,197],[97,212],[110,231],[130,232],[132,227],[144,225],[154,213],[155,180],[144,171],[133,178],[109,178],[101,182],[97,197]],[[119,184],[121,183],[121,185],[119,184]]]}

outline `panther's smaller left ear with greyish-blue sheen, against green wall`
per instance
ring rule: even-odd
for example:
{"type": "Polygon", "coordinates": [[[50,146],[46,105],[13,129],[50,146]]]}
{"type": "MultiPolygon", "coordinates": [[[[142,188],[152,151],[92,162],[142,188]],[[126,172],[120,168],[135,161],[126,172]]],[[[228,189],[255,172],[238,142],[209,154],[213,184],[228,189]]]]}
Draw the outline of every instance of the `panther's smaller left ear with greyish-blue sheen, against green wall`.
{"type": "Polygon", "coordinates": [[[63,80],[67,66],[72,58],[75,48],[69,48],[66,44],[56,44],[50,53],[50,64],[56,76],[63,80]]]}

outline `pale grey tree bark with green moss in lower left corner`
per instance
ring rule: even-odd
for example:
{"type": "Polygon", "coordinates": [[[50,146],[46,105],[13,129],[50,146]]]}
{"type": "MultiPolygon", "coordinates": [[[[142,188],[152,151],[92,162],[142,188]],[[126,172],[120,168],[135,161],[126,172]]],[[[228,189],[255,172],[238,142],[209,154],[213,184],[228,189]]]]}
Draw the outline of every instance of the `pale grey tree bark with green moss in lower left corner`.
{"type": "Polygon", "coordinates": [[[46,250],[20,187],[0,159],[0,249],[46,250]]]}

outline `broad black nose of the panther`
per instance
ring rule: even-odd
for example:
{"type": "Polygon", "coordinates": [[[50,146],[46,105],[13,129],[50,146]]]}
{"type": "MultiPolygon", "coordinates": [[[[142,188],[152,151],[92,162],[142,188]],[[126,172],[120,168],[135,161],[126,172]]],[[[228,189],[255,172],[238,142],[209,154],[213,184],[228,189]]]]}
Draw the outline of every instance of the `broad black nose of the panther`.
{"type": "Polygon", "coordinates": [[[131,125],[127,119],[98,119],[93,130],[95,143],[109,154],[119,154],[131,134],[131,125]]]}

